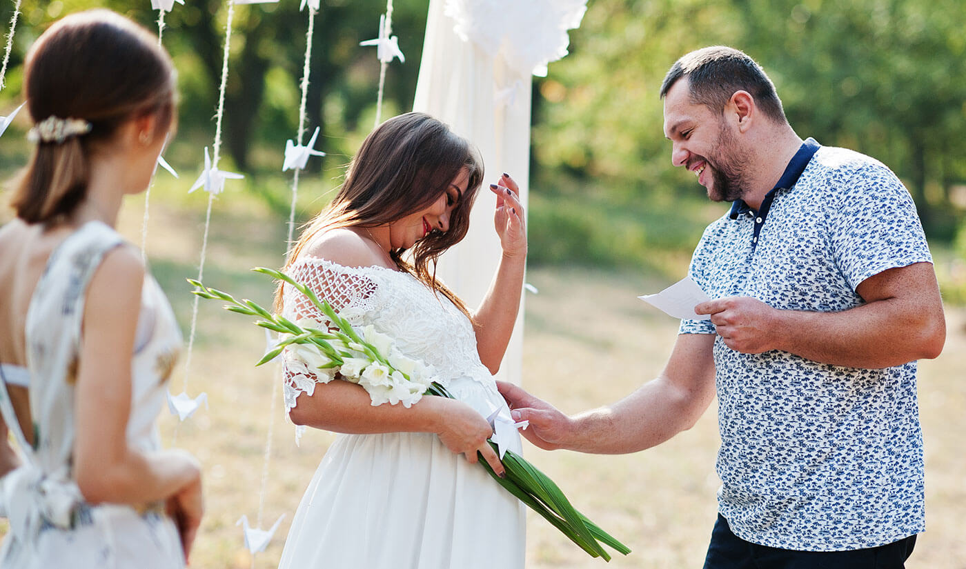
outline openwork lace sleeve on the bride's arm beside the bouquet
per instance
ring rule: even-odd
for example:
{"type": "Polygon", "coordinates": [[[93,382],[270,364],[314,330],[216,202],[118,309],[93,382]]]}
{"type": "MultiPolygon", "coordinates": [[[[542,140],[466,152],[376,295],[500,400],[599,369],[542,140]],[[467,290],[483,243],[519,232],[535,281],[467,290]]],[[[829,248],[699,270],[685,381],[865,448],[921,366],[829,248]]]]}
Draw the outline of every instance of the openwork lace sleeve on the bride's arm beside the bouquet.
{"type": "MultiPolygon", "coordinates": [[[[315,292],[319,299],[327,300],[336,312],[353,324],[358,324],[362,315],[372,308],[376,282],[359,270],[310,257],[299,259],[287,272],[293,280],[315,292]]],[[[318,323],[326,322],[322,311],[295,287],[289,285],[282,289],[282,316],[293,322],[306,318],[318,323]]],[[[332,377],[320,378],[289,349],[282,356],[283,396],[285,411],[288,413],[296,407],[300,394],[311,396],[315,392],[316,384],[327,383],[332,377]]],[[[304,430],[303,426],[296,427],[296,443],[304,430]]]]}

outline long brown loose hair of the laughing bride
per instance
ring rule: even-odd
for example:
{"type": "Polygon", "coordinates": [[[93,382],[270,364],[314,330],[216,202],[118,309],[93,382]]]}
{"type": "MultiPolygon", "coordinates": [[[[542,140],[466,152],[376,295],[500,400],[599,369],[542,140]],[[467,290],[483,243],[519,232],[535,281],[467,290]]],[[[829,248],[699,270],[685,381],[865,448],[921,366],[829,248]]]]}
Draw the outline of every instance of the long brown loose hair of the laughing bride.
{"type": "MultiPolygon", "coordinates": [[[[326,209],[306,225],[284,269],[320,233],[339,227],[377,227],[429,207],[463,168],[469,170],[469,182],[449,215],[449,229],[431,232],[416,242],[412,262],[403,259],[406,250],[402,248],[389,255],[400,270],[452,300],[469,317],[463,301],[436,278],[436,262],[467,235],[469,211],[483,183],[483,162],[466,139],[424,113],[393,117],[366,137],[345,183],[326,209]]],[[[275,291],[274,309],[282,309],[281,285],[275,291]]]]}

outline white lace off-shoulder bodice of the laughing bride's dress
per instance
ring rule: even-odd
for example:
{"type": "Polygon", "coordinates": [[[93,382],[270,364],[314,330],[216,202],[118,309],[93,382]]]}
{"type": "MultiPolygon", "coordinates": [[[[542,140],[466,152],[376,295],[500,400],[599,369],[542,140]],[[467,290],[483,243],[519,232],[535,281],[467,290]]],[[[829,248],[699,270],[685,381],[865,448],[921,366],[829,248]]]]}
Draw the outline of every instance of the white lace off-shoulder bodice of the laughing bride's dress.
{"type": "MultiPolygon", "coordinates": [[[[404,355],[435,368],[437,381],[458,399],[484,415],[486,405],[474,405],[468,390],[482,388],[496,395],[497,384],[480,362],[472,324],[452,301],[437,295],[406,272],[383,267],[343,267],[325,259],[301,257],[288,274],[311,288],[354,327],[372,325],[389,335],[404,355]]],[[[282,315],[297,321],[325,318],[312,302],[291,286],[283,292],[282,315]]],[[[286,364],[288,365],[288,364],[286,364]]],[[[289,409],[302,391],[311,393],[315,378],[304,370],[286,370],[285,400],[289,409]]]]}

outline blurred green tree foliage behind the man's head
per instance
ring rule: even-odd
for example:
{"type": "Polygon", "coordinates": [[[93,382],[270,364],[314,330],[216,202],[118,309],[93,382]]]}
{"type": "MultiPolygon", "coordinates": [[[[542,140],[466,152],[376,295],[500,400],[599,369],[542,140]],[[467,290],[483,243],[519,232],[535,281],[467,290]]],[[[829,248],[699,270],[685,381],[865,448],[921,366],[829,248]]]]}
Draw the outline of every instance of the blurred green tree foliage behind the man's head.
{"type": "Polygon", "coordinates": [[[964,28],[961,0],[596,0],[537,86],[539,180],[625,200],[698,194],[670,165],[658,92],[680,55],[725,43],[769,72],[802,136],[884,161],[949,239],[966,181],[964,28]]]}

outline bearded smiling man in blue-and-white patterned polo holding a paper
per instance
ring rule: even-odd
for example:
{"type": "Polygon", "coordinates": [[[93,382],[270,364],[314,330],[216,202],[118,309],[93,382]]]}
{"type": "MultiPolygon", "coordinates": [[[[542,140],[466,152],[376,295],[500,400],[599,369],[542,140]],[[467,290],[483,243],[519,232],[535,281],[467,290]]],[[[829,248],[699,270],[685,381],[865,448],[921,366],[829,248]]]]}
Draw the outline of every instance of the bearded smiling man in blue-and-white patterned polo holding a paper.
{"type": "Polygon", "coordinates": [[[543,448],[634,452],[718,396],[719,517],[706,569],[903,567],[923,531],[916,360],[945,319],[915,205],[881,162],[802,140],[741,51],[678,60],[661,88],[671,161],[732,207],[690,276],[710,320],[681,322],[664,372],[567,416],[500,390],[543,448]]]}

